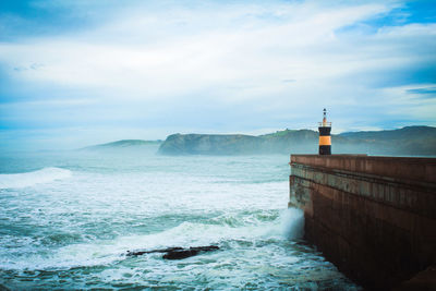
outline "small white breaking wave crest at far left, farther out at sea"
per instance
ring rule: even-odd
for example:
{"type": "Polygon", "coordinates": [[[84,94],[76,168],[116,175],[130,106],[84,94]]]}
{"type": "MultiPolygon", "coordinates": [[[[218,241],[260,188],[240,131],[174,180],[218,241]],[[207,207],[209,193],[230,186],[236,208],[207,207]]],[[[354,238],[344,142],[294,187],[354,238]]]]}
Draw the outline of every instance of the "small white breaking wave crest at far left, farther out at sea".
{"type": "Polygon", "coordinates": [[[0,189],[33,186],[35,184],[48,183],[70,177],[70,170],[55,167],[24,173],[4,173],[0,174],[0,189]]]}

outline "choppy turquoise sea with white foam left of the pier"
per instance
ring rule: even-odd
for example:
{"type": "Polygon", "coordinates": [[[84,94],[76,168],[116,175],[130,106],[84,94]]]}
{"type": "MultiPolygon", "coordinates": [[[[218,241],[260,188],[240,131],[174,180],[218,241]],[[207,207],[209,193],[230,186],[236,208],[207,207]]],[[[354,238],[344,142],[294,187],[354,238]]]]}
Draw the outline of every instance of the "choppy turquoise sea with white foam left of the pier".
{"type": "Polygon", "coordinates": [[[361,290],[303,240],[288,162],[156,146],[1,151],[0,290],[361,290]]]}

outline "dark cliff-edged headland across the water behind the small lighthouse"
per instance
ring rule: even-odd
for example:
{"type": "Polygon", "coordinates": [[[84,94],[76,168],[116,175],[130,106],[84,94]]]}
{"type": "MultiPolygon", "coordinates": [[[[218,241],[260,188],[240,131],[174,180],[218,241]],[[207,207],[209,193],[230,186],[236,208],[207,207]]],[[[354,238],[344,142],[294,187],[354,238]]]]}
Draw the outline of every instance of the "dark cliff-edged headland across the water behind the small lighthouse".
{"type": "MultiPolygon", "coordinates": [[[[332,154],[398,156],[436,155],[436,128],[347,132],[331,136],[332,154]]],[[[164,155],[317,154],[318,132],[284,130],[258,136],[243,134],[172,134],[160,145],[164,155]]]]}

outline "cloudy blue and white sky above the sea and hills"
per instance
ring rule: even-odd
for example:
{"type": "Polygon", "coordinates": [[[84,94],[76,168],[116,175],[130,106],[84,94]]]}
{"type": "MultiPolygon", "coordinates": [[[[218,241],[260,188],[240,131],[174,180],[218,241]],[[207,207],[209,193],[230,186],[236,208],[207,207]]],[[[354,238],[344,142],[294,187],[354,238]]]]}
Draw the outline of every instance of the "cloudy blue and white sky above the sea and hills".
{"type": "Polygon", "coordinates": [[[0,150],[436,126],[436,1],[0,1],[0,150]]]}

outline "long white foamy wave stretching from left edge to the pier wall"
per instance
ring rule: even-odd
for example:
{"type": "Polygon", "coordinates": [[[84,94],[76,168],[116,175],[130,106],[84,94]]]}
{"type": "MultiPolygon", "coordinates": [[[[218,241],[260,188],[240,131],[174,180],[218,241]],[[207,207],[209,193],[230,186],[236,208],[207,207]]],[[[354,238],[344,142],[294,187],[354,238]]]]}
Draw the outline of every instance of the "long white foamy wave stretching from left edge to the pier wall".
{"type": "MultiPolygon", "coordinates": [[[[95,240],[62,246],[52,254],[29,252],[28,256],[9,254],[9,260],[2,262],[0,269],[45,269],[60,270],[76,267],[108,266],[126,258],[128,251],[157,250],[172,246],[190,247],[219,245],[223,250],[245,248],[281,240],[299,239],[302,233],[303,213],[300,209],[283,209],[280,213],[255,211],[235,216],[238,226],[228,222],[228,216],[220,216],[216,221],[182,222],[167,230],[149,233],[119,237],[113,240],[95,240]],[[265,217],[264,217],[265,216],[265,217]],[[213,223],[210,223],[213,222],[213,223]]],[[[70,237],[55,237],[51,240],[70,240],[70,237]]],[[[153,255],[161,259],[161,255],[153,255]]]]}

